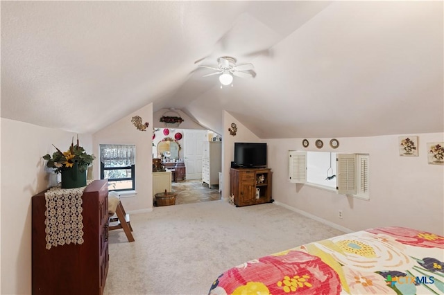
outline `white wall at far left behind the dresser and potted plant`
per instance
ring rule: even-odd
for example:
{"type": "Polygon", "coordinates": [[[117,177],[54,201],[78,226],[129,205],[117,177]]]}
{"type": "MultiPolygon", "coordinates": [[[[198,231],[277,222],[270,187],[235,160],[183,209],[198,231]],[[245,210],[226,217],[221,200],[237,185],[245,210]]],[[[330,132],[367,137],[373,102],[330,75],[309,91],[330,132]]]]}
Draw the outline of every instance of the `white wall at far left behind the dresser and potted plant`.
{"type": "MultiPolygon", "coordinates": [[[[48,185],[42,157],[56,151],[51,144],[67,150],[72,136],[1,118],[1,294],[31,294],[31,197],[48,185]]],[[[79,139],[92,152],[92,136],[79,139]]]]}

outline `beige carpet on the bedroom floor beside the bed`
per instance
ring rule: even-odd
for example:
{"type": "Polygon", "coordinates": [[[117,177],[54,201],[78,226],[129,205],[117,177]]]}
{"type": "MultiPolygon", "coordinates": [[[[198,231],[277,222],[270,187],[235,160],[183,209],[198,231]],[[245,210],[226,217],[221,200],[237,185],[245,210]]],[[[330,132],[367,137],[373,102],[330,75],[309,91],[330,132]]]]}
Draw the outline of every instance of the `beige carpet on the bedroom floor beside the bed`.
{"type": "Polygon", "coordinates": [[[156,207],[131,225],[135,242],[110,231],[104,294],[207,294],[230,267],[343,234],[275,204],[223,200],[156,207]]]}

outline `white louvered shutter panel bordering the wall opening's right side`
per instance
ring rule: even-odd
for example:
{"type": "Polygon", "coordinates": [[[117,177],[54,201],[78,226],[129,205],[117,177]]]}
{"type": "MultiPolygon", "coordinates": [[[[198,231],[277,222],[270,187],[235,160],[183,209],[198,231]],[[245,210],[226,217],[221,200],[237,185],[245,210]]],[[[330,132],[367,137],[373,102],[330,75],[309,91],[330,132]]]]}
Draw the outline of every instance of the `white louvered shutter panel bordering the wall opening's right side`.
{"type": "Polygon", "coordinates": [[[337,154],[336,189],[341,195],[356,194],[356,155],[337,154]]]}

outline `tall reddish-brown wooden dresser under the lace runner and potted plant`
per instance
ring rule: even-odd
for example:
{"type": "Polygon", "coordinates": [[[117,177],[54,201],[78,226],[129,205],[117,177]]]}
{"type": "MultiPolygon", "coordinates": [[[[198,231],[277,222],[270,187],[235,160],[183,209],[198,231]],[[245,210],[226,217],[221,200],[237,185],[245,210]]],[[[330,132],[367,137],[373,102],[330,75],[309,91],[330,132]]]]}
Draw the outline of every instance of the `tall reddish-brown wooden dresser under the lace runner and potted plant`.
{"type": "Polygon", "coordinates": [[[108,274],[108,180],[82,195],[83,244],[46,249],[44,193],[32,198],[33,294],[103,294],[108,274]]]}

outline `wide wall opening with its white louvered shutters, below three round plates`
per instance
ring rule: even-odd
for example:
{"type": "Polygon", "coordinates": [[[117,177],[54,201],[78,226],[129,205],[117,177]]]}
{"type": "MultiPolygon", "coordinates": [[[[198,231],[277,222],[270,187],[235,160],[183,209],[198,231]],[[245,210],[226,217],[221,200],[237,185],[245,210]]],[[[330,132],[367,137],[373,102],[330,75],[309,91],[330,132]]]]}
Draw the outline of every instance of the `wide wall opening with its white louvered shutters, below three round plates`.
{"type": "Polygon", "coordinates": [[[369,199],[368,162],[368,154],[289,151],[289,180],[369,199]]]}

